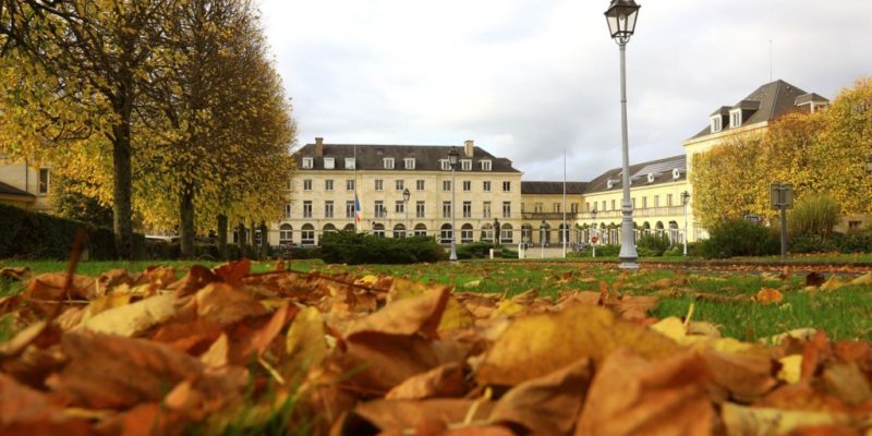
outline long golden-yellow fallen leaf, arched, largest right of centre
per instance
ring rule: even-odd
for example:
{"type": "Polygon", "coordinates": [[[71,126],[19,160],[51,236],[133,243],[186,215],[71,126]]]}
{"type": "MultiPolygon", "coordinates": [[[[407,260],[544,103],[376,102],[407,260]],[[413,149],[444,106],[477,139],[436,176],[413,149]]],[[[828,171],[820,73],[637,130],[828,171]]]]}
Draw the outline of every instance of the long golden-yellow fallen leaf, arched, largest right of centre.
{"type": "Polygon", "coordinates": [[[620,347],[653,360],[680,349],[671,339],[607,308],[577,304],[559,313],[517,319],[487,351],[476,379],[483,385],[516,385],[582,356],[601,363],[620,347]]]}

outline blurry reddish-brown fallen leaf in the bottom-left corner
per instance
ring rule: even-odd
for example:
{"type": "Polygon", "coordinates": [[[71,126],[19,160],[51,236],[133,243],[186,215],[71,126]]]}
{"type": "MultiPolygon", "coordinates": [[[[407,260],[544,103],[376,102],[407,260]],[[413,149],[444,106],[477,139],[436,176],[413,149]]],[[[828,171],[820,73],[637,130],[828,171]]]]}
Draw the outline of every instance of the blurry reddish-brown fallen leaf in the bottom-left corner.
{"type": "Polygon", "coordinates": [[[0,373],[0,434],[84,436],[92,429],[87,421],[66,416],[44,393],[0,373]]]}

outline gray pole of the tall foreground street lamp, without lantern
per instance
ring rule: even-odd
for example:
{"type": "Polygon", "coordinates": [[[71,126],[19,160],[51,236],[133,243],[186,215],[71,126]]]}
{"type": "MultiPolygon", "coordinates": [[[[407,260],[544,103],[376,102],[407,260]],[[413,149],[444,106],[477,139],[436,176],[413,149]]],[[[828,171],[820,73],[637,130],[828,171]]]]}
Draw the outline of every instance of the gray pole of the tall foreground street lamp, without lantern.
{"type": "Polygon", "coordinates": [[[621,178],[623,184],[623,205],[621,214],[621,244],[620,244],[620,269],[639,269],[635,259],[639,255],[635,252],[635,241],[633,240],[633,205],[630,201],[630,157],[629,141],[627,138],[627,44],[619,43],[620,46],[620,126],[621,126],[621,154],[622,170],[621,178]]]}

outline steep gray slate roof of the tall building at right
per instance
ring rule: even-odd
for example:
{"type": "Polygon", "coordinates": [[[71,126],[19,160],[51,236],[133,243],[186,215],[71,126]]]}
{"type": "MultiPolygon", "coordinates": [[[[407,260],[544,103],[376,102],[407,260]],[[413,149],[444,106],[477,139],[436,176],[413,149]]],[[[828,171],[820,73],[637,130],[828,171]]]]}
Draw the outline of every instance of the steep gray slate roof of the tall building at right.
{"type": "MultiPolygon", "coordinates": [[[[751,109],[751,108],[753,108],[753,105],[751,104],[751,101],[759,101],[760,102],[760,108],[754,110],[753,113],[751,113],[750,117],[748,117],[747,119],[743,119],[742,120],[742,125],[755,124],[755,123],[764,122],[764,121],[773,121],[773,120],[777,119],[778,117],[784,116],[785,113],[789,113],[789,112],[798,110],[798,108],[796,106],[798,104],[797,98],[800,97],[800,96],[806,96],[809,93],[807,93],[807,92],[804,92],[804,90],[802,90],[802,89],[800,89],[800,88],[798,88],[798,87],[796,87],[796,86],[794,86],[794,85],[791,85],[791,84],[789,84],[789,83],[787,83],[785,81],[778,80],[778,81],[775,81],[775,82],[772,82],[772,83],[767,83],[767,84],[756,88],[756,90],[751,93],[748,97],[744,97],[741,100],[739,100],[739,102],[737,102],[736,105],[723,106],[723,107],[718,108],[717,110],[715,110],[712,113],[712,116],[715,116],[715,114],[718,114],[718,113],[726,114],[726,113],[728,113],[728,110],[730,108],[742,108],[742,109],[748,108],[748,109],[751,109]],[[726,111],[725,111],[725,109],[726,109],[726,111]]],[[[823,99],[824,101],[826,101],[826,99],[821,97],[821,96],[816,96],[816,97],[819,97],[819,98],[823,99]]],[[[807,97],[807,98],[809,98],[809,97],[807,97]]],[[[815,101],[820,101],[820,100],[815,100],[815,101]]],[[[732,129],[736,129],[736,128],[732,128],[732,129]]],[[[724,123],[722,132],[726,132],[726,131],[729,131],[729,130],[730,130],[729,123],[724,123]]],[[[697,133],[695,135],[693,135],[691,137],[691,140],[692,138],[697,138],[697,137],[701,137],[701,136],[711,135],[711,134],[712,134],[712,125],[710,123],[708,125],[705,126],[705,129],[700,131],[700,133],[697,133]]]]}

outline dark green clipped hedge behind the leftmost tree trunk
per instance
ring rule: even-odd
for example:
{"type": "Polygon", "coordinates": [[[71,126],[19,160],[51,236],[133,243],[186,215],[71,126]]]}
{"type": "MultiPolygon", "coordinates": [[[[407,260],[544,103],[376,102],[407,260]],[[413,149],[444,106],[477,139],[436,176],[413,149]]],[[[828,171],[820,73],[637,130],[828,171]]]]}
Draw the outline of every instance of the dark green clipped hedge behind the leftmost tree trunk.
{"type": "MultiPolygon", "coordinates": [[[[78,230],[87,235],[88,258],[116,258],[112,231],[87,222],[59,218],[0,204],[0,258],[66,259],[78,230]]],[[[145,255],[144,237],[134,234],[134,257],[145,255]]]]}

